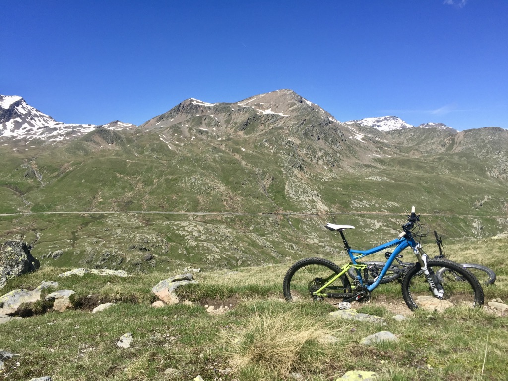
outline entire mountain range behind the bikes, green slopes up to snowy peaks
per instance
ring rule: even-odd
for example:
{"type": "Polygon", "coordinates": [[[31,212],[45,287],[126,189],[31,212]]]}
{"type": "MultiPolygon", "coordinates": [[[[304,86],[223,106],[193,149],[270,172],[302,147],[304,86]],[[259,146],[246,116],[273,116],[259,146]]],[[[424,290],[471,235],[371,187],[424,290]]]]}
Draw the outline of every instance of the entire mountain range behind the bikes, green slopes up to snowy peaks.
{"type": "Polygon", "coordinates": [[[351,243],[367,248],[396,237],[413,205],[444,238],[508,231],[508,131],[497,127],[340,122],[284,89],[187,99],[139,126],[61,123],[2,96],[0,135],[0,213],[10,214],[0,237],[59,267],[339,255],[327,222],[356,226],[351,243]]]}

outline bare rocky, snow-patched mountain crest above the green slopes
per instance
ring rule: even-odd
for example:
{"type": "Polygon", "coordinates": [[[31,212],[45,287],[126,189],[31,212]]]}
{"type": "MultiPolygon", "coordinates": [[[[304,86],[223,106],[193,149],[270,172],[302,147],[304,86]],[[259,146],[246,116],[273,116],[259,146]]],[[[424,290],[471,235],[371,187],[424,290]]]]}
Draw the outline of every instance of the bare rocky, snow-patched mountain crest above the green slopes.
{"type": "MultiPolygon", "coordinates": [[[[415,128],[414,125],[397,116],[369,117],[341,123],[319,105],[304,99],[293,90],[282,89],[258,94],[234,103],[207,103],[190,98],[168,112],[147,120],[140,126],[140,129],[142,131],[152,129],[164,131],[164,128],[178,125],[180,131],[177,131],[176,135],[173,134],[171,137],[171,140],[174,140],[173,137],[177,135],[182,138],[189,137],[190,135],[184,129],[189,126],[198,126],[201,135],[210,135],[220,139],[221,136],[219,135],[225,129],[232,128],[234,131],[244,132],[249,124],[251,126],[254,124],[258,128],[273,125],[274,122],[285,125],[302,124],[302,118],[305,119],[304,114],[308,112],[313,114],[315,118],[321,118],[320,125],[335,123],[347,126],[351,131],[346,135],[360,141],[363,134],[359,134],[355,129],[358,126],[370,127],[382,132],[415,128]],[[198,117],[194,118],[195,120],[190,124],[185,121],[189,113],[194,113],[194,116],[198,117]]],[[[77,138],[98,127],[93,124],[58,122],[51,116],[28,105],[19,96],[2,95],[0,95],[0,126],[0,137],[27,140],[37,138],[45,141],[77,138]]],[[[134,124],[118,120],[101,126],[110,130],[133,131],[136,129],[134,124]]],[[[446,124],[438,122],[422,123],[418,128],[436,128],[457,133],[456,130],[446,124]]],[[[179,143],[174,141],[174,144],[179,143]]]]}

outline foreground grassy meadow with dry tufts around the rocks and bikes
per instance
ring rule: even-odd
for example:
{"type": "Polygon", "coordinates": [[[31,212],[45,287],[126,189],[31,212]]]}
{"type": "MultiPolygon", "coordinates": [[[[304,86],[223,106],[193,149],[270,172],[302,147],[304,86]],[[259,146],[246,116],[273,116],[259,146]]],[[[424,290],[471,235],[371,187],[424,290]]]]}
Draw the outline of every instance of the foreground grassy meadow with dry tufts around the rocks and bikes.
{"type": "MultiPolygon", "coordinates": [[[[477,249],[488,253],[484,263],[498,279],[485,288],[486,300],[508,300],[506,243],[506,239],[487,239],[447,245],[447,253],[456,261],[469,262],[477,249]]],[[[433,255],[435,250],[427,251],[433,255]]],[[[327,257],[343,262],[341,257],[327,257]]],[[[79,308],[0,326],[1,349],[21,354],[6,361],[0,379],[52,375],[68,380],[180,380],[201,374],[207,380],[277,380],[299,372],[306,379],[330,380],[352,369],[376,371],[382,380],[504,379],[508,316],[483,310],[422,311],[395,323],[390,308],[405,307],[400,304],[400,285],[391,283],[380,286],[371,303],[361,305],[361,311],[385,317],[386,326],[331,320],[328,312],[334,307],[326,303],[280,300],[282,278],[290,265],[288,261],[238,272],[204,271],[197,274],[199,284],[180,290],[181,298],[193,300],[194,305],[161,309],[149,306],[155,300],[151,287],[182,268],[129,278],[58,278],[66,269],[43,267],[12,279],[2,292],[57,280],[59,288],[76,291],[79,308]],[[393,304],[380,303],[386,300],[393,304]],[[92,315],[89,309],[99,301],[117,304],[92,315]],[[233,308],[210,315],[205,304],[233,308]],[[361,338],[378,331],[390,331],[399,341],[359,345],[361,338]],[[133,334],[134,343],[120,349],[116,342],[126,332],[133,334]],[[321,340],[326,334],[335,335],[337,342],[324,345],[321,340]],[[296,343],[301,344],[300,350],[295,349],[300,348],[296,343]],[[168,368],[176,370],[165,373],[168,368]]]]}

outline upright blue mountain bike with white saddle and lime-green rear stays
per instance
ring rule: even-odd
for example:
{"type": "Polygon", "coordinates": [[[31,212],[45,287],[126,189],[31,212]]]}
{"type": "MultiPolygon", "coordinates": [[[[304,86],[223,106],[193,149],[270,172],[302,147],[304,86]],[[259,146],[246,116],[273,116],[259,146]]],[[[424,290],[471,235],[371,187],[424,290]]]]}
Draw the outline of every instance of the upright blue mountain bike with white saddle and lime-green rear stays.
{"type": "Polygon", "coordinates": [[[339,307],[344,308],[353,301],[366,302],[370,299],[371,292],[390,271],[400,252],[410,247],[418,262],[404,275],[402,297],[411,310],[426,308],[442,311],[455,306],[482,306],[484,293],[478,279],[455,262],[429,259],[420,242],[417,242],[426,234],[422,234],[420,215],[415,213],[415,207],[412,207],[407,219],[407,223],[402,226],[402,233],[396,239],[369,250],[356,250],[348,244],[344,231],[355,227],[327,224],[327,229],[340,233],[351,262],[342,268],[323,258],[306,258],[296,262],[284,277],[284,298],[288,301],[307,298],[336,299],[339,300],[339,307]],[[357,261],[393,247],[385,266],[375,278],[369,279],[367,265],[357,261]],[[356,272],[353,283],[346,275],[351,269],[356,272]]]}

